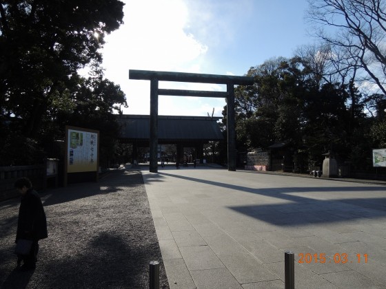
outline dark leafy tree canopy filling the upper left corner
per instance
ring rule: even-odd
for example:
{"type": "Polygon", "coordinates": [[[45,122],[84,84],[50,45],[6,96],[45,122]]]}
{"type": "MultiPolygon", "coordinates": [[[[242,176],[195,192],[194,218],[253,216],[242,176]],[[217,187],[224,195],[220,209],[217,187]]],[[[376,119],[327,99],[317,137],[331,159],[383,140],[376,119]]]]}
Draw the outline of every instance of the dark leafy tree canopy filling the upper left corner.
{"type": "Polygon", "coordinates": [[[99,67],[104,36],[123,23],[123,6],[118,0],[0,1],[2,147],[14,147],[15,135],[18,143],[41,144],[53,127],[59,135],[71,122],[99,129],[87,122],[126,105],[99,67]],[[79,76],[85,65],[94,76],[79,76]]]}

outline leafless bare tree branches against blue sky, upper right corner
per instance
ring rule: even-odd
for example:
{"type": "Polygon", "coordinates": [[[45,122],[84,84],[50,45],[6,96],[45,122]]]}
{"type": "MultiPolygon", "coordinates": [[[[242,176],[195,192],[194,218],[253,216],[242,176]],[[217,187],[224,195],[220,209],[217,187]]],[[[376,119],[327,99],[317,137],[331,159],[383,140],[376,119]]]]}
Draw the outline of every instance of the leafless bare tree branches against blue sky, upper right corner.
{"type": "MultiPolygon", "coordinates": [[[[307,17],[315,34],[334,49],[338,71],[363,69],[386,94],[385,0],[308,0],[307,17]]],[[[353,77],[349,77],[352,81],[353,77]]]]}

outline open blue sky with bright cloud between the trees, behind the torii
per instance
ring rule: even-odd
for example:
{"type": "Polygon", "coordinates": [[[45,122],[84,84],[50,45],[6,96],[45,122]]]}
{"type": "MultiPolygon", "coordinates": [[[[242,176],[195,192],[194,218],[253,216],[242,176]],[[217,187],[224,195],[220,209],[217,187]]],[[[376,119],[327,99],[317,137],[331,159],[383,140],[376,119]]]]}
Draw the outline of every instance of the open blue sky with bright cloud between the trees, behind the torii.
{"type": "MultiPolygon", "coordinates": [[[[149,114],[150,82],[129,69],[244,75],[312,43],[307,0],[123,0],[124,24],[106,36],[106,78],[121,86],[125,114],[149,114]]],[[[225,90],[221,85],[160,83],[161,88],[225,90]]],[[[159,115],[221,116],[225,100],[159,96],[159,115]]]]}

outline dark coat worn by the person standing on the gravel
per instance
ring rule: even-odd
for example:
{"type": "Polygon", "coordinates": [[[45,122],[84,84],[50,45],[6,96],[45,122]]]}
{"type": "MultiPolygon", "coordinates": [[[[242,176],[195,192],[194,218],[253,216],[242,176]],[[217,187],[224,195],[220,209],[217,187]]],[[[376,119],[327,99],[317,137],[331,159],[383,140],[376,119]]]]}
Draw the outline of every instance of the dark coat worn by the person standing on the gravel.
{"type": "Polygon", "coordinates": [[[32,239],[38,241],[48,237],[47,221],[43,204],[37,191],[29,189],[21,196],[16,240],[32,239]]]}

